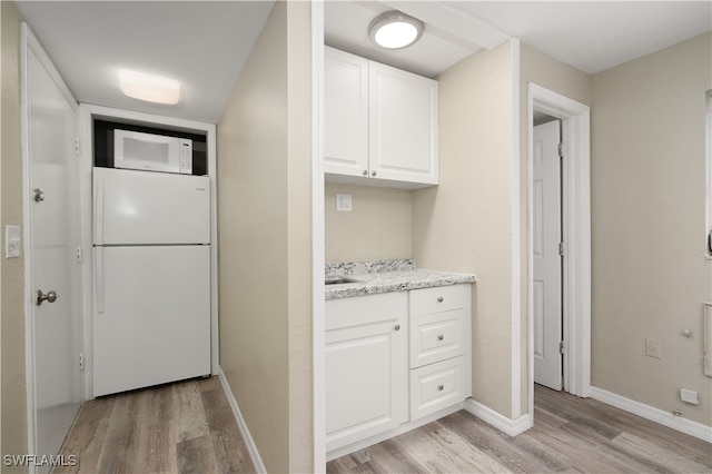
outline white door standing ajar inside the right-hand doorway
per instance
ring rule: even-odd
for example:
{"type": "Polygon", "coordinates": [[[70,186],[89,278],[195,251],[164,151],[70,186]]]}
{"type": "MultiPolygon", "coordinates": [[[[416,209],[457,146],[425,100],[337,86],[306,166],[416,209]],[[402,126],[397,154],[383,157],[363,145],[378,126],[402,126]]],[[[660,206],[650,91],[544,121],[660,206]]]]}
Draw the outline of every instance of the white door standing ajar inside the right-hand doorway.
{"type": "Polygon", "coordinates": [[[561,122],[534,127],[534,382],[562,389],[561,122]]]}

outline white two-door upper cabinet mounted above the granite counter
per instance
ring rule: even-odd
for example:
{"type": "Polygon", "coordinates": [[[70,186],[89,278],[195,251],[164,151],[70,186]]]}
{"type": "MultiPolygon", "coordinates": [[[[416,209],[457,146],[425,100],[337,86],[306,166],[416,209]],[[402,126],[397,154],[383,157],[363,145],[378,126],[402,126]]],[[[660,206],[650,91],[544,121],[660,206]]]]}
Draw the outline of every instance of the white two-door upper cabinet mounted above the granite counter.
{"type": "Polygon", "coordinates": [[[324,69],[326,180],[437,185],[437,81],[328,47],[324,69]]]}

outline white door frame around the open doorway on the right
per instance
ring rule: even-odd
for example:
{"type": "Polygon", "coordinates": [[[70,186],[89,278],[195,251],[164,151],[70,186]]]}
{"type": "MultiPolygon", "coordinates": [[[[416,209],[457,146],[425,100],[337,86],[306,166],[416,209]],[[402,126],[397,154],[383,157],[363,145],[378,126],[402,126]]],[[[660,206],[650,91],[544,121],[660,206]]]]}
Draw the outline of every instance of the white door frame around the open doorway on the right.
{"type": "Polygon", "coordinates": [[[564,389],[587,397],[591,391],[591,132],[590,108],[533,82],[527,88],[528,269],[527,319],[530,414],[534,416],[534,332],[532,180],[534,111],[562,121],[562,233],[565,248],[563,275],[564,389]]]}

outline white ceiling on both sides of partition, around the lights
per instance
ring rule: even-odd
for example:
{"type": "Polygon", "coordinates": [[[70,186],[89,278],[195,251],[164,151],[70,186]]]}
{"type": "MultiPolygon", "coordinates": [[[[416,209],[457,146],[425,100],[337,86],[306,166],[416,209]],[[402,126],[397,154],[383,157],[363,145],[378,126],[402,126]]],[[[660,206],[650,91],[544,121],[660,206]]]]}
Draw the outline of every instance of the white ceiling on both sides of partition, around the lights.
{"type": "MultiPolygon", "coordinates": [[[[77,100],[217,122],[274,2],[18,1],[77,100]],[[118,68],[178,79],[178,106],[123,97],[118,68]]],[[[325,42],[435,76],[479,48],[521,38],[596,73],[712,29],[710,1],[325,2],[325,42]],[[398,9],[426,24],[418,43],[379,51],[368,23],[398,9]]]]}

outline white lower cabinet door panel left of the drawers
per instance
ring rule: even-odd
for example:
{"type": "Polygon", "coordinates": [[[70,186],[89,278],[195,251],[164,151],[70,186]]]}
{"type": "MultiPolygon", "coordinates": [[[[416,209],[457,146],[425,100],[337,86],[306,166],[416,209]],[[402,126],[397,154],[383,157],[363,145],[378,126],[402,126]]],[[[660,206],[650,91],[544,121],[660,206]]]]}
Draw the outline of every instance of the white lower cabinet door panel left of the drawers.
{"type": "Polygon", "coordinates": [[[394,319],[327,332],[327,451],[407,421],[406,322],[394,319]]]}

